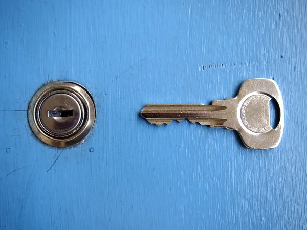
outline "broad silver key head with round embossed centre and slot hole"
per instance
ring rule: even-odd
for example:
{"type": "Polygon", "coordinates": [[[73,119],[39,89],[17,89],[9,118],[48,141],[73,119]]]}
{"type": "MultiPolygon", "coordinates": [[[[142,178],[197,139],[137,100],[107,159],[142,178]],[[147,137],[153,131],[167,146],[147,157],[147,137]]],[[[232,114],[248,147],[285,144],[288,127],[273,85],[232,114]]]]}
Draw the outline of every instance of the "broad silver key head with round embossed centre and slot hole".
{"type": "Polygon", "coordinates": [[[215,105],[227,106],[228,129],[240,134],[244,145],[252,149],[270,149],[278,146],[284,127],[283,101],[280,90],[271,79],[249,79],[243,82],[236,98],[214,101],[215,105]],[[270,125],[270,100],[279,106],[280,119],[277,127],[270,125]]]}

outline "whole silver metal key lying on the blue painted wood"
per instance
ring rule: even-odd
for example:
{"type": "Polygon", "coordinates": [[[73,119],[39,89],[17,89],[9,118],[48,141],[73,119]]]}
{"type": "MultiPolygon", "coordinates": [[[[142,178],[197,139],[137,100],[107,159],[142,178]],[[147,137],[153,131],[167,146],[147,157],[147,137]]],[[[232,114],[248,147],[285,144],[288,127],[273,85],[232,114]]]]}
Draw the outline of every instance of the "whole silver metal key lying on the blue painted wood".
{"type": "Polygon", "coordinates": [[[210,127],[236,130],[244,145],[252,149],[270,149],[279,145],[284,127],[283,101],[278,85],[271,79],[256,78],[243,82],[235,98],[204,104],[148,104],[141,116],[158,126],[173,120],[188,119],[210,127]],[[279,123],[270,125],[270,100],[279,106],[279,123]]]}

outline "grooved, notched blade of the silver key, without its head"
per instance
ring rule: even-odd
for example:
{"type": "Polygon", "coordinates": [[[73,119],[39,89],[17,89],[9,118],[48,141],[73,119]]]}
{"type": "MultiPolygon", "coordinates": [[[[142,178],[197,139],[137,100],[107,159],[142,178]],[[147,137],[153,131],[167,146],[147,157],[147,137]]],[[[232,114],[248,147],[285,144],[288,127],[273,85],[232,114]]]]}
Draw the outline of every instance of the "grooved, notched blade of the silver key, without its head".
{"type": "Polygon", "coordinates": [[[141,110],[141,116],[150,124],[158,126],[170,124],[173,120],[181,122],[188,119],[201,125],[219,127],[227,119],[218,118],[218,112],[227,109],[227,106],[204,104],[149,104],[141,110]],[[214,116],[216,115],[216,117],[214,116]]]}

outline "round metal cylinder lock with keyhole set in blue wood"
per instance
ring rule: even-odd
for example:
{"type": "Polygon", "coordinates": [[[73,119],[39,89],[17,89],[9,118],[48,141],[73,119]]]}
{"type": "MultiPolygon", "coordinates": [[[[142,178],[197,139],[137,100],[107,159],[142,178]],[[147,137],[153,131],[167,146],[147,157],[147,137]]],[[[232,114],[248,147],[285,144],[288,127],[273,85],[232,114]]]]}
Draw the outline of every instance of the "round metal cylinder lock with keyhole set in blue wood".
{"type": "Polygon", "coordinates": [[[71,82],[51,82],[36,91],[28,107],[28,121],[35,136],[54,147],[81,142],[95,121],[90,94],[71,82]]]}

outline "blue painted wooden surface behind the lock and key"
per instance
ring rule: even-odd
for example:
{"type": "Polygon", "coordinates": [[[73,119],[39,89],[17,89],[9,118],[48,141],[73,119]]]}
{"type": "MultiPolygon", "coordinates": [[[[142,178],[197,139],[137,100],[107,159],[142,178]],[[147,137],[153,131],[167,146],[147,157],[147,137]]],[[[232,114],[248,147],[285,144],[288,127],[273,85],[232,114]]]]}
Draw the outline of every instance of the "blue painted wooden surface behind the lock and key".
{"type": "Polygon", "coordinates": [[[306,13],[303,0],[1,1],[0,229],[307,229],[306,13]],[[139,116],[259,77],[284,99],[275,149],[139,116]],[[74,148],[27,123],[32,95],[58,80],[96,102],[74,148]]]}

